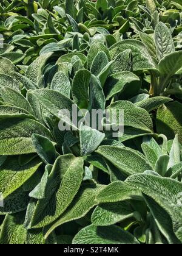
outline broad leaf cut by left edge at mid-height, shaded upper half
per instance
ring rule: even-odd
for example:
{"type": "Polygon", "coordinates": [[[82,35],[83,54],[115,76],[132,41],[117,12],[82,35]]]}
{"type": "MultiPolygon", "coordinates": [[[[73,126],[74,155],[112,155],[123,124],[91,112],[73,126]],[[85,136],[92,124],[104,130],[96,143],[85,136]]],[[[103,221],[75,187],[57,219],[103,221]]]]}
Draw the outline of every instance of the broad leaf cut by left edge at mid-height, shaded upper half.
{"type": "Polygon", "coordinates": [[[31,136],[43,135],[53,141],[50,131],[41,123],[24,115],[0,116],[0,154],[21,155],[35,153],[31,136]]]}

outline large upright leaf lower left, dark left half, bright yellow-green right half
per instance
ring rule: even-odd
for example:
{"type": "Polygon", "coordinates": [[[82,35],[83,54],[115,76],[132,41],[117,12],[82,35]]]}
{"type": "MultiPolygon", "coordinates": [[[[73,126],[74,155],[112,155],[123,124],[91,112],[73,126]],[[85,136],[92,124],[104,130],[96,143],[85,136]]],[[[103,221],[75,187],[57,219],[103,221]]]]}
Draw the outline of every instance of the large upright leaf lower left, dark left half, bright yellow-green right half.
{"type": "Polygon", "coordinates": [[[45,199],[37,202],[28,227],[51,224],[69,207],[83,180],[83,159],[62,155],[56,159],[45,189],[45,199]]]}

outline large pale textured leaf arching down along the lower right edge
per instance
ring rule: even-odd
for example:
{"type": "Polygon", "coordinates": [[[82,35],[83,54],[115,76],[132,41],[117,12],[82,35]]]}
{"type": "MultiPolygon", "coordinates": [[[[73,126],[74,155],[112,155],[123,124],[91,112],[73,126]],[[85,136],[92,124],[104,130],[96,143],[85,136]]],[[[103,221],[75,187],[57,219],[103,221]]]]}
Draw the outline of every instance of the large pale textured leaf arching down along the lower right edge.
{"type": "Polygon", "coordinates": [[[169,178],[142,174],[130,176],[127,183],[151,197],[166,210],[172,218],[175,235],[182,241],[182,183],[169,178]]]}

